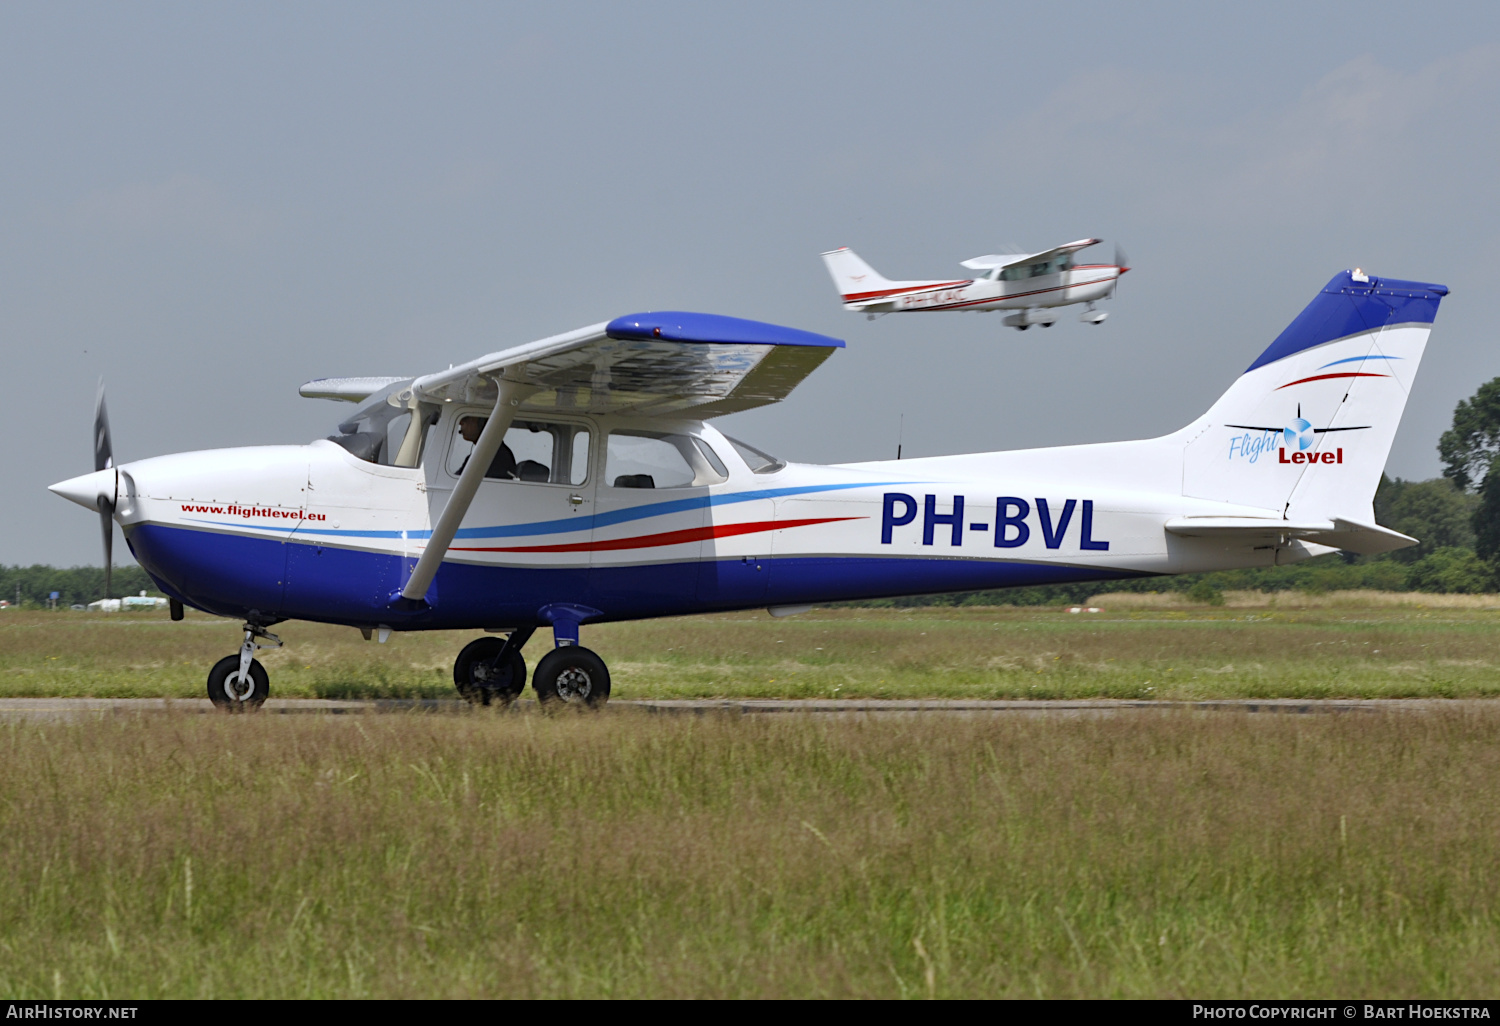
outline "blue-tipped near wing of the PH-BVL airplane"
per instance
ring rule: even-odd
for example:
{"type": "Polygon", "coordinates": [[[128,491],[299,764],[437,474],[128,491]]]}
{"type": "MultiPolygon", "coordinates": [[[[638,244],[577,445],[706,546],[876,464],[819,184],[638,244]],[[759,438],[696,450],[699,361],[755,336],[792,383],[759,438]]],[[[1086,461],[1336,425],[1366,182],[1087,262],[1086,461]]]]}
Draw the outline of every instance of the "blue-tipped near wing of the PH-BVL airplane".
{"type": "Polygon", "coordinates": [[[842,339],[736,316],[632,314],[490,352],[411,387],[432,402],[495,402],[502,378],[534,388],[518,414],[705,418],[780,402],[838,348],[842,339]]]}

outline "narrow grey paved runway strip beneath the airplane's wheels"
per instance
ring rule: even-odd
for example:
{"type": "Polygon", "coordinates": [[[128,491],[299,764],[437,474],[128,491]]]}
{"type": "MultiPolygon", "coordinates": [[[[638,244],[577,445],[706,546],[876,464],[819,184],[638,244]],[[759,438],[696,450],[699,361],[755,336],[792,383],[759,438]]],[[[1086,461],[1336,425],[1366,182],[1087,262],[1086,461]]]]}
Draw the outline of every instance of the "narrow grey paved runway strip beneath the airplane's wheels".
{"type": "MultiPolygon", "coordinates": [[[[512,712],[536,710],[531,699],[512,712]]],[[[1198,712],[1431,712],[1440,710],[1500,710],[1491,699],[1215,699],[1203,702],[1137,702],[1120,699],[616,699],[620,712],[654,714],[772,714],[818,716],[1124,716],[1152,711],[1198,712]]],[[[70,720],[86,716],[213,712],[208,699],[0,699],[0,720],[70,720]]],[[[458,699],[278,699],[261,710],[276,714],[470,712],[458,699]]]]}

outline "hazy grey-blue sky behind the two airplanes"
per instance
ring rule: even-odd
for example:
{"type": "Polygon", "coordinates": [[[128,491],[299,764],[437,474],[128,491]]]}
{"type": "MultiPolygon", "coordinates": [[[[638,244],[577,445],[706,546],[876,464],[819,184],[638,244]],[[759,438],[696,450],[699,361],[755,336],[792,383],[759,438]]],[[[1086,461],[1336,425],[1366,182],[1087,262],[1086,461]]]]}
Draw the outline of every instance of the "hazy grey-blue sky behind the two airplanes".
{"type": "Polygon", "coordinates": [[[722,423],[764,448],[1018,448],[1182,426],[1353,266],[1454,290],[1388,468],[1432,477],[1500,375],[1497,158],[1492,3],[6,3],[0,562],[98,558],[45,488],[100,375],[126,462],[326,435],[309,378],[694,309],[849,342],[722,423]],[[818,258],[1086,236],[1134,266],[1108,322],[1024,334],[867,322],[818,258]]]}

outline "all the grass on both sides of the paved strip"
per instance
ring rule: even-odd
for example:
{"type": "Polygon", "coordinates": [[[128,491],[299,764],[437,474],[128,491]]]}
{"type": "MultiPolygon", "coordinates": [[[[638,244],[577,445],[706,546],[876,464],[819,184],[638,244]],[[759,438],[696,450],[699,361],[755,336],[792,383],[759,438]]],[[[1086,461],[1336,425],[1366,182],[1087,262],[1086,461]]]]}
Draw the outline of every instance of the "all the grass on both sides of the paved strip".
{"type": "MultiPolygon", "coordinates": [[[[1500,600],[585,627],[618,698],[1479,698],[1500,600]]],[[[279,696],[476,634],[284,624],[279,696]]],[[[528,648],[534,662],[544,639],[528,648]]],[[[200,698],[228,621],[0,614],[0,696],[200,698]]],[[[0,996],[1482,996],[1500,704],[0,723],[0,996]]]]}

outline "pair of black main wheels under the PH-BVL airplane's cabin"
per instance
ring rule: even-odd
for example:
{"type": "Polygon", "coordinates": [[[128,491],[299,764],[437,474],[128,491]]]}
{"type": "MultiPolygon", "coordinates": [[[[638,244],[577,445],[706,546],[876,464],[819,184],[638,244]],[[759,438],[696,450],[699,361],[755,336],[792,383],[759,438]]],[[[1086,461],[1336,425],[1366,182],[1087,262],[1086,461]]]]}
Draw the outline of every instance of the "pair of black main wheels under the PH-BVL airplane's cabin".
{"type": "MultiPolygon", "coordinates": [[[[520,648],[531,640],[534,627],[513,630],[506,640],[480,638],[470,642],[453,662],[453,684],[474,705],[508,705],[526,687],[526,663],[520,648]]],[[[542,657],[531,675],[531,687],[542,705],[585,705],[597,708],[609,700],[609,668],[604,660],[578,644],[578,624],[554,624],[556,648],[542,657]]]]}

